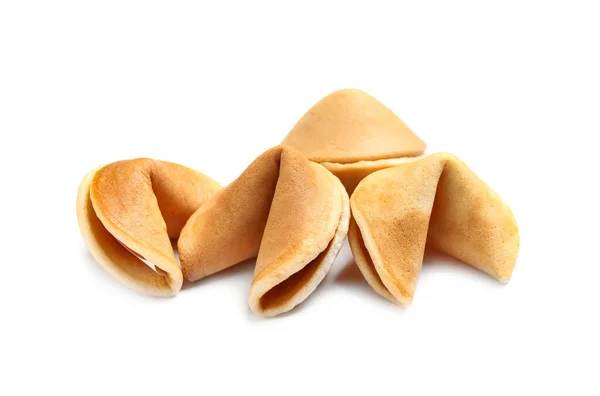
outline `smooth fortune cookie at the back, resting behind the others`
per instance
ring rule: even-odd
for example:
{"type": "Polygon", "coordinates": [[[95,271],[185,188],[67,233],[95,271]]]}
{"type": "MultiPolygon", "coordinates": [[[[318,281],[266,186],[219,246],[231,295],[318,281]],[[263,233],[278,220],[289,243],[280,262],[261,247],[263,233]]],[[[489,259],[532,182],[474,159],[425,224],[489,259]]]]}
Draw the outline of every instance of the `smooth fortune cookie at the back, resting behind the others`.
{"type": "Polygon", "coordinates": [[[349,194],[365,176],[410,161],[426,148],[396,114],[357,89],[321,99],[282,143],[333,172],[349,194]]]}

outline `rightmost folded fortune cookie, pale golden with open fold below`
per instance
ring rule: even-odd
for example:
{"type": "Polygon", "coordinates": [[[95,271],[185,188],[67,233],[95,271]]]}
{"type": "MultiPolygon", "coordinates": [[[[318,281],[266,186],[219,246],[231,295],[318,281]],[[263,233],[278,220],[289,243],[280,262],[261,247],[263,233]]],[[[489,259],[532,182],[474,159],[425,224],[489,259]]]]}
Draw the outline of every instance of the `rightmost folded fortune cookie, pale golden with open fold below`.
{"type": "Polygon", "coordinates": [[[409,305],[425,246],[506,283],[519,252],[510,208],[462,161],[434,154],[375,172],[350,199],[348,240],[371,287],[409,305]]]}

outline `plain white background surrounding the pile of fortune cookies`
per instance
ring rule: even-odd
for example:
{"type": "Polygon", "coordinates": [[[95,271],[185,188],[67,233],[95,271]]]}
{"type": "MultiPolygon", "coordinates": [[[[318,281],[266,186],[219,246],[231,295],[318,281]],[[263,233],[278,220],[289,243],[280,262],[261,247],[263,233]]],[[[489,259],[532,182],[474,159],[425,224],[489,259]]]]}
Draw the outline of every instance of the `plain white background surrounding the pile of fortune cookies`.
{"type": "Polygon", "coordinates": [[[214,3],[0,3],[0,393],[597,395],[598,2],[214,3]],[[510,284],[428,258],[403,309],[346,246],[265,320],[253,263],[156,299],[87,253],[91,168],[152,157],[226,184],[345,87],[511,205],[510,284]]]}

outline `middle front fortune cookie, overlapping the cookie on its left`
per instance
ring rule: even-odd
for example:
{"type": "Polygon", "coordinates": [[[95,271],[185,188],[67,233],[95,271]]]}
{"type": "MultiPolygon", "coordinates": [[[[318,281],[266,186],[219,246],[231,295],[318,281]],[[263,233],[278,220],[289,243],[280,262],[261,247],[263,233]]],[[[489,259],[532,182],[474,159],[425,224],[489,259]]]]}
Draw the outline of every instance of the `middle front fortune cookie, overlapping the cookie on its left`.
{"type": "Polygon", "coordinates": [[[349,219],[340,181],[296,150],[277,146],[189,219],[178,242],[183,275],[195,281],[258,256],[250,308],[264,316],[289,311],[331,268],[349,219]]]}

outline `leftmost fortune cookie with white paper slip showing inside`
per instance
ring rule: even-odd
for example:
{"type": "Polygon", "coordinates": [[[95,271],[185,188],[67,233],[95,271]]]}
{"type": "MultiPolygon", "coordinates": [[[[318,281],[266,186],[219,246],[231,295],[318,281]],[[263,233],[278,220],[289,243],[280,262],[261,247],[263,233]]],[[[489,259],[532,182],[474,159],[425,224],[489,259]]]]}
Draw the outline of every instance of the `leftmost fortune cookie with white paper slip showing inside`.
{"type": "Polygon", "coordinates": [[[115,162],[81,182],[79,229],[92,256],[115,279],[144,294],[171,296],[183,281],[171,238],[218,189],[211,178],[170,162],[115,162]]]}

